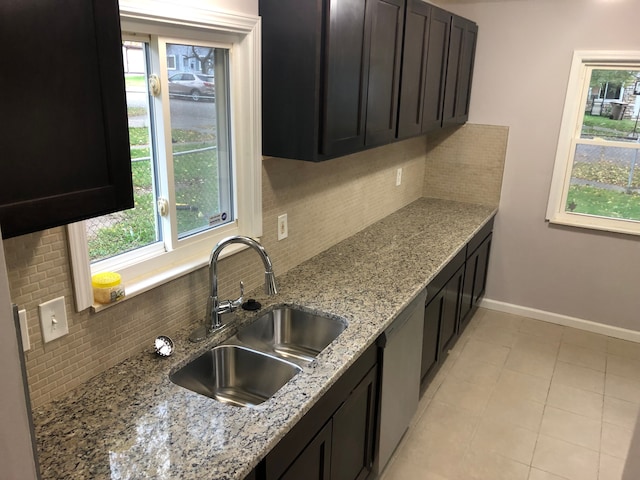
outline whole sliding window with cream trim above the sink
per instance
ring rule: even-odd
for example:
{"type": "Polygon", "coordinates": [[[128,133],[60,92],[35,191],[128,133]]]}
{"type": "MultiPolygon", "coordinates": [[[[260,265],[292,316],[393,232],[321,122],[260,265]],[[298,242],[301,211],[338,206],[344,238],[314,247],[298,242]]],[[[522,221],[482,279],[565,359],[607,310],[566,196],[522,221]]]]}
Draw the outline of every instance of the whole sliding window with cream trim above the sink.
{"type": "Polygon", "coordinates": [[[131,297],[206,265],[224,237],[262,234],[259,17],[147,0],[120,12],[146,64],[125,79],[136,205],[68,226],[78,311],[92,274],[120,273],[131,297]],[[174,51],[206,71],[169,82],[174,51]]]}

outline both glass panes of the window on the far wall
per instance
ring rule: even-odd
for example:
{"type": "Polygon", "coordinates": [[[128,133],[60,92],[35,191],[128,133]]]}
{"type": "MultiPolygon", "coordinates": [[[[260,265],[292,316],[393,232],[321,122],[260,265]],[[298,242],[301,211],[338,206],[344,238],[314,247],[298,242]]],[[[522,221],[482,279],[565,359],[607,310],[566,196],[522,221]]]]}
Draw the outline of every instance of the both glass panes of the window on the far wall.
{"type": "Polygon", "coordinates": [[[640,68],[587,67],[586,73],[564,211],[638,221],[640,68]],[[602,103],[603,98],[616,100],[602,103]]]}

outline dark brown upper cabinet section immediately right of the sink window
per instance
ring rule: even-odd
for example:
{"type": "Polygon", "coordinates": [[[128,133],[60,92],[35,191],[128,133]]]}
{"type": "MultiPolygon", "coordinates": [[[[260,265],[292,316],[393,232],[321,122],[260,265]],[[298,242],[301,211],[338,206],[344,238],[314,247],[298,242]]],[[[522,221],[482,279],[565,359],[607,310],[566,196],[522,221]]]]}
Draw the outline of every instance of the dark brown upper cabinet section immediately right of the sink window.
{"type": "Polygon", "coordinates": [[[405,0],[260,0],[263,155],[393,141],[405,0]]]}

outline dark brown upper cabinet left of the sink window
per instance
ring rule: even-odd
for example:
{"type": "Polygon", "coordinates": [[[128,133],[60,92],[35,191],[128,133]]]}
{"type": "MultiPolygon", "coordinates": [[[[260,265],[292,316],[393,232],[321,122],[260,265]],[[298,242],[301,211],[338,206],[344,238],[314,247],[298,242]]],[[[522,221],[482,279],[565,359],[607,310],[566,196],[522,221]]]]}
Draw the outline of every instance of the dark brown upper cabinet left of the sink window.
{"type": "Polygon", "coordinates": [[[0,2],[0,42],[3,237],[131,208],[117,0],[0,2]]]}

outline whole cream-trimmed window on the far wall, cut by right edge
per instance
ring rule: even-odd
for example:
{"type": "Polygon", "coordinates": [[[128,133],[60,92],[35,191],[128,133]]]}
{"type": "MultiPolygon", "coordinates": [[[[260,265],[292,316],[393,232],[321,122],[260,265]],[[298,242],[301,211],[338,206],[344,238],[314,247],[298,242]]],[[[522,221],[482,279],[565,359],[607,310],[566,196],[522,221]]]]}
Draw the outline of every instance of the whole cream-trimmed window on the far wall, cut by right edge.
{"type": "Polygon", "coordinates": [[[640,52],[573,56],[547,220],[640,235],[640,125],[635,85],[640,52]],[[618,85],[617,101],[602,104],[618,85]]]}

